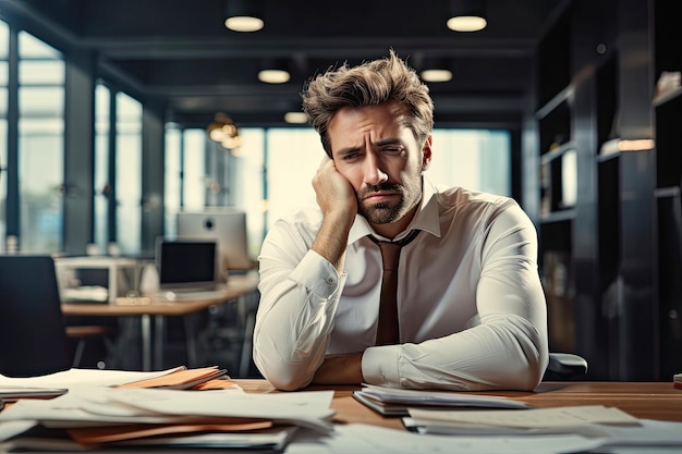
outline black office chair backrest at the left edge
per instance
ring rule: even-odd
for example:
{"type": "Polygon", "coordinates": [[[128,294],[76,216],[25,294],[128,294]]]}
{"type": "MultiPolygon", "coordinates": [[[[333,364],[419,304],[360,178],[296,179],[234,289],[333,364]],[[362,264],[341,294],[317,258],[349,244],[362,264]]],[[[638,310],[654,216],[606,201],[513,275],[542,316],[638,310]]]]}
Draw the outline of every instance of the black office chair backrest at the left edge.
{"type": "Polygon", "coordinates": [[[35,377],[72,361],[52,258],[0,256],[0,373],[35,377]]]}

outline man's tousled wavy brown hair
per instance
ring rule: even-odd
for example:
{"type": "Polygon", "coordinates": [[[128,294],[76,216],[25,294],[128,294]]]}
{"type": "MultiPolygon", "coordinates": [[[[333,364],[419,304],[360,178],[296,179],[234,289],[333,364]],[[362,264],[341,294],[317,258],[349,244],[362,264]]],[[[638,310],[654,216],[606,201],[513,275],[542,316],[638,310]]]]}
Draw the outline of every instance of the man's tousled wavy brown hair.
{"type": "Polygon", "coordinates": [[[406,108],[405,119],[417,142],[434,128],[434,101],[416,72],[391,49],[386,58],[357,66],[330,68],[309,78],[301,93],[303,111],[331,157],[329,122],[342,107],[375,106],[397,100],[406,108]]]}

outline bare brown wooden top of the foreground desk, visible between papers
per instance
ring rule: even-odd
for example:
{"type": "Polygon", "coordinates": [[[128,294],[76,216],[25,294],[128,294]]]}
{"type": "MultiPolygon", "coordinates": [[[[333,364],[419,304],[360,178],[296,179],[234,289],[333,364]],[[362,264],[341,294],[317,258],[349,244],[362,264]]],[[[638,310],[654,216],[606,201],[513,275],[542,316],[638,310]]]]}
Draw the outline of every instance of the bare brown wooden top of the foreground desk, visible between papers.
{"type": "MultiPolygon", "coordinates": [[[[266,380],[235,380],[246,392],[278,392],[266,380]]],[[[334,390],[331,407],[334,421],[361,422],[405,430],[401,418],[382,417],[353,398],[361,386],[308,386],[306,390],[334,390]]],[[[545,382],[535,392],[482,392],[526,402],[540,408],[568,405],[605,405],[629,413],[636,418],[682,422],[682,390],[672,382],[545,382]]]]}

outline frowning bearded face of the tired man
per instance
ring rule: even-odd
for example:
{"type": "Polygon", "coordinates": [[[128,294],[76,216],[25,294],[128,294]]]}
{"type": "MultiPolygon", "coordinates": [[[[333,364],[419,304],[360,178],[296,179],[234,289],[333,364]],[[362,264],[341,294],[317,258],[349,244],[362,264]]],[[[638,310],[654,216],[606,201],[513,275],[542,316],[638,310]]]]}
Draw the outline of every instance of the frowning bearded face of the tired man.
{"type": "Polygon", "coordinates": [[[328,128],[334,165],[355,189],[357,212],[370,224],[403,221],[401,230],[422,198],[422,172],[431,159],[430,137],[417,143],[403,125],[403,109],[394,101],[345,107],[328,128]]]}

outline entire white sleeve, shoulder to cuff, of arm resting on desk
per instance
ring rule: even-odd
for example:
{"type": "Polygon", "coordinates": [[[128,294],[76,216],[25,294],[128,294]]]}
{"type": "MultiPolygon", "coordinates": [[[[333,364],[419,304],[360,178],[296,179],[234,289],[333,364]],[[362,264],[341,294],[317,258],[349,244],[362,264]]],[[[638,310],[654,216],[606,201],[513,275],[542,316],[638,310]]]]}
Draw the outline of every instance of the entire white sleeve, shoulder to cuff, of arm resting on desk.
{"type": "Polygon", "coordinates": [[[367,383],[409,389],[533,390],[548,363],[536,233],[516,207],[479,232],[477,316],[470,328],[421,343],[368,347],[367,383]]]}

